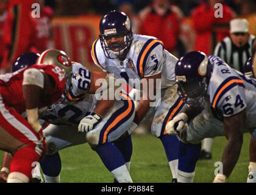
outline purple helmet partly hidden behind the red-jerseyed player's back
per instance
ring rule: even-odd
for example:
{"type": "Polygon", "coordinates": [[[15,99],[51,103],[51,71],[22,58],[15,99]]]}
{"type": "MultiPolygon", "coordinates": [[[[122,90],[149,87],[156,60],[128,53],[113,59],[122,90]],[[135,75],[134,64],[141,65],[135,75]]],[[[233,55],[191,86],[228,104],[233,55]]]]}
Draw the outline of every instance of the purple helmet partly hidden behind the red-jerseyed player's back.
{"type": "Polygon", "coordinates": [[[37,62],[38,57],[40,54],[34,52],[27,52],[21,54],[12,65],[12,73],[18,71],[18,69],[26,68],[27,66],[34,65],[37,62]]]}

